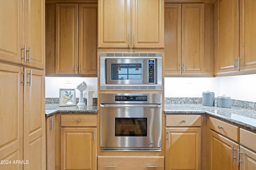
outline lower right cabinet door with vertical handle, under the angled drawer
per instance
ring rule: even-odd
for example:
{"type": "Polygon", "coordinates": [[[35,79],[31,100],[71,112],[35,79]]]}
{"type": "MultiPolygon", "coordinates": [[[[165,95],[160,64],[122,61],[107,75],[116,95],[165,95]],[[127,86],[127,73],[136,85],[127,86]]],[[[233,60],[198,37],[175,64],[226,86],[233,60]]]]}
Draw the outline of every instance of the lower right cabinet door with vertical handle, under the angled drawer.
{"type": "Polygon", "coordinates": [[[239,145],[210,130],[210,170],[238,170],[237,150],[239,145]],[[233,157],[233,158],[232,158],[233,157]]]}

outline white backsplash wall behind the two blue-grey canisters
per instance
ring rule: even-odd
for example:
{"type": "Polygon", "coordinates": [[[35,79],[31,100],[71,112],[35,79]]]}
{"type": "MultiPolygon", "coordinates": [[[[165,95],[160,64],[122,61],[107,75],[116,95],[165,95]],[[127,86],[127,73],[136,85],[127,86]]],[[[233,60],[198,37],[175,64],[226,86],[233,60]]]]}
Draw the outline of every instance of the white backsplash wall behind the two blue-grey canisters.
{"type": "Polygon", "coordinates": [[[164,78],[165,98],[201,98],[210,90],[215,97],[225,94],[231,99],[256,102],[256,74],[215,78],[164,78]]]}

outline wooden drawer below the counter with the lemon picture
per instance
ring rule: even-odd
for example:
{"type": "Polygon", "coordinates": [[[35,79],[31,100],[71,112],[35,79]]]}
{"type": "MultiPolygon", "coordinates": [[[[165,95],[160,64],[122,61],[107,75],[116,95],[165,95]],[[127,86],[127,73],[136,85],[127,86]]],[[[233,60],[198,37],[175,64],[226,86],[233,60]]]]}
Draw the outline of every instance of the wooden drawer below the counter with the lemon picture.
{"type": "Polygon", "coordinates": [[[97,115],[61,115],[63,127],[96,127],[97,115]]]}

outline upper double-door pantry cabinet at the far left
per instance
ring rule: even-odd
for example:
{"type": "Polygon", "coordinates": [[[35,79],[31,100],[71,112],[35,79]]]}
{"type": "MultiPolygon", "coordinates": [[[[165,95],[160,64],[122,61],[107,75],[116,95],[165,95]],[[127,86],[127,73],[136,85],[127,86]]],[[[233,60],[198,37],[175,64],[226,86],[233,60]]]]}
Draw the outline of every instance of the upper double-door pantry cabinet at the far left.
{"type": "Polygon", "coordinates": [[[44,0],[14,0],[2,6],[0,60],[45,67],[44,0]],[[8,15],[6,15],[8,14],[8,15]]]}

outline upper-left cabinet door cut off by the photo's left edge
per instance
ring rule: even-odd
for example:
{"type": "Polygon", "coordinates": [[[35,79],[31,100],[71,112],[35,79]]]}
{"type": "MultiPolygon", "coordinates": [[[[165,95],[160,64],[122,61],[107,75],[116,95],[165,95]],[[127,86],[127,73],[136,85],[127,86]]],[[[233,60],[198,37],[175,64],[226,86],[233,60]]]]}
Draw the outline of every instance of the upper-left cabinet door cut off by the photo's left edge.
{"type": "Polygon", "coordinates": [[[0,60],[21,63],[20,53],[24,54],[21,50],[24,48],[22,0],[1,0],[0,7],[0,60]]]}

